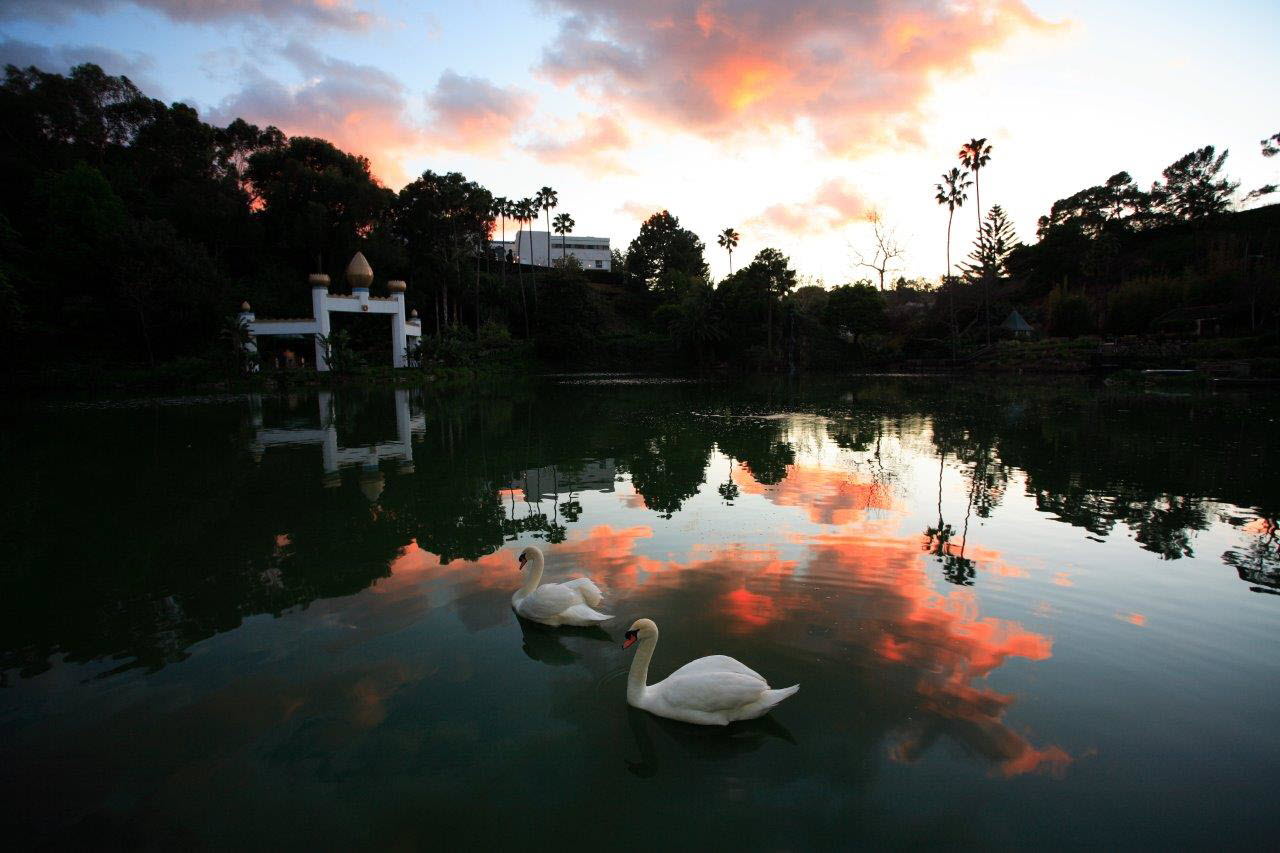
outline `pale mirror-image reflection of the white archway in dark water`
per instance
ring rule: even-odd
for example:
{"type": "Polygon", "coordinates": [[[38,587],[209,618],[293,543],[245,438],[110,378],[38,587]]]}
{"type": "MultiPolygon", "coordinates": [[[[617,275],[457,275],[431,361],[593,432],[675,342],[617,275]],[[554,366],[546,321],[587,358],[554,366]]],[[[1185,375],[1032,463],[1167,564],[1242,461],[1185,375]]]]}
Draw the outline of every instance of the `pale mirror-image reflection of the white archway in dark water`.
{"type": "Polygon", "coordinates": [[[426,416],[410,412],[408,391],[396,391],[396,441],[383,441],[375,444],[344,447],[338,442],[338,426],[333,410],[333,394],[321,391],[316,394],[320,409],[319,428],[265,428],[262,425],[262,397],[250,397],[250,418],[253,423],[253,443],[250,451],[255,460],[261,460],[268,447],[296,447],[300,444],[319,444],[324,484],[337,487],[342,483],[343,467],[360,467],[360,489],[371,502],[378,501],[387,484],[381,464],[396,462],[396,473],[413,473],[412,437],[426,430],[426,416]]]}

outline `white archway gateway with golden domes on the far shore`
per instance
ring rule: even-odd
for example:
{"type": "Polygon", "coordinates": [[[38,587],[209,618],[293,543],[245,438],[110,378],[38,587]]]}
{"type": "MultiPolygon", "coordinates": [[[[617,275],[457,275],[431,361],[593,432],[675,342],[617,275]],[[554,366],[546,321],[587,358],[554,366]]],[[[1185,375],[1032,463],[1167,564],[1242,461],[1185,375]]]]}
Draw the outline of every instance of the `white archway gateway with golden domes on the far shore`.
{"type": "Polygon", "coordinates": [[[387,282],[387,291],[390,296],[370,296],[369,286],[374,283],[374,269],[365,260],[364,252],[356,252],[351,263],[347,264],[347,283],[351,284],[351,296],[330,293],[329,277],[324,273],[312,273],[310,282],[310,318],[260,320],[248,302],[241,305],[239,318],[248,328],[246,351],[257,352],[259,337],[310,334],[315,341],[316,370],[328,370],[329,360],[325,357],[321,338],[328,338],[332,332],[330,313],[389,314],[392,318],[392,366],[403,368],[408,364],[408,339],[421,337],[422,321],[419,319],[417,311],[410,316],[404,315],[404,282],[398,279],[387,282]]]}

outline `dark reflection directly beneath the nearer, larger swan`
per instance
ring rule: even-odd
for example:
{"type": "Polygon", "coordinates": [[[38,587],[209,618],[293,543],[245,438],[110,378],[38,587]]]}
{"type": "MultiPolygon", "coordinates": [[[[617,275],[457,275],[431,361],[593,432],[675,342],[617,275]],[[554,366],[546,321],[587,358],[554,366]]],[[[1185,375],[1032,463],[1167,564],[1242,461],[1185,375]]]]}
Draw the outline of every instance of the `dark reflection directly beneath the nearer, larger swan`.
{"type": "Polygon", "coordinates": [[[785,740],[792,747],[799,745],[791,730],[778,722],[773,715],[755,720],[741,720],[727,726],[700,726],[658,717],[648,711],[627,706],[627,725],[635,738],[639,761],[623,758],[627,772],[641,779],[658,775],[658,748],[654,745],[650,726],[660,730],[676,744],[686,757],[699,762],[730,761],[749,752],[755,752],[768,740],[785,740]]]}

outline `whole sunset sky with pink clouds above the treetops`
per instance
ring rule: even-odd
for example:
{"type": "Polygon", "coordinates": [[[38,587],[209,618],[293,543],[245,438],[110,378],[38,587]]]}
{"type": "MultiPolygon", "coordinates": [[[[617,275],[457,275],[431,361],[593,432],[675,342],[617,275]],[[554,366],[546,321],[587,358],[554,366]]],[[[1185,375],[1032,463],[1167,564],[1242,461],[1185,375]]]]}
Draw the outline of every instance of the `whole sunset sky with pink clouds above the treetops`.
{"type": "MultiPolygon", "coordinates": [[[[1055,199],[1121,169],[1140,186],[1203,145],[1242,191],[1280,182],[1280,4],[1222,0],[3,0],[0,61],[95,61],[219,124],[243,117],[370,158],[399,188],[460,170],[495,195],[559,192],[625,248],[668,209],[860,278],[865,215],[945,266],[933,184],[986,136],[984,207],[1023,240],[1055,199]]],[[[952,257],[968,252],[973,196],[952,257]]],[[[558,213],[557,211],[557,213],[558,213]]]]}

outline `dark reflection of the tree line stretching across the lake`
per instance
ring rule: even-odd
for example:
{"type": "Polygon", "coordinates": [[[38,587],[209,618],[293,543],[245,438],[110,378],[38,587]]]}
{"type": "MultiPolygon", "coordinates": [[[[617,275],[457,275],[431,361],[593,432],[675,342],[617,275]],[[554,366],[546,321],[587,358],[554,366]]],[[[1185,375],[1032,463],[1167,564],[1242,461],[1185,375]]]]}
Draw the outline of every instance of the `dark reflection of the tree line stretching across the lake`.
{"type": "MultiPolygon", "coordinates": [[[[12,482],[41,483],[45,492],[19,500],[12,491],[0,514],[10,564],[0,593],[26,602],[0,624],[0,667],[37,672],[56,653],[160,667],[248,615],[369,587],[410,539],[442,562],[476,560],[524,534],[561,542],[586,519],[572,492],[524,512],[500,492],[532,467],[572,471],[588,457],[614,460],[645,506],[671,517],[705,482],[718,446],[730,457],[718,491],[732,502],[733,460],[765,484],[782,483],[795,464],[786,421],[736,414],[753,403],[755,412],[829,414],[826,438],[877,487],[901,465],[883,457],[882,438],[920,447],[916,435],[931,425],[940,462],[966,484],[965,520],[943,517],[940,507],[924,532],[925,549],[956,584],[974,583],[982,570],[966,544],[972,516],[998,512],[1012,470],[1025,473],[1042,512],[1097,535],[1123,524],[1166,558],[1193,552],[1212,502],[1274,503],[1270,469],[1258,462],[1274,456],[1275,443],[1266,412],[1257,411],[1262,403],[928,380],[904,388],[860,386],[835,411],[822,387],[781,402],[769,389],[678,387],[429,397],[415,401],[426,419],[413,441],[416,473],[384,467],[374,503],[355,470],[325,488],[314,448],[271,448],[250,460],[227,441],[250,442],[243,412],[230,406],[95,412],[91,423],[59,414],[19,425],[6,437],[24,448],[10,455],[12,482]],[[728,416],[694,414],[717,407],[728,416]]],[[[389,429],[380,414],[389,397],[338,392],[342,429],[376,439],[389,429]]],[[[312,425],[314,398],[268,398],[264,409],[312,425]]],[[[1280,588],[1274,533],[1222,560],[1260,590],[1280,588]]]]}

